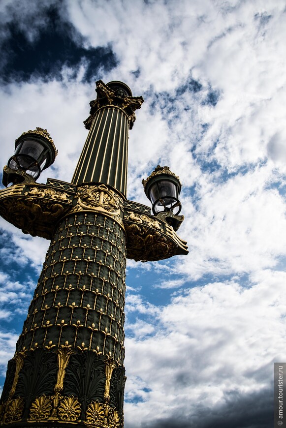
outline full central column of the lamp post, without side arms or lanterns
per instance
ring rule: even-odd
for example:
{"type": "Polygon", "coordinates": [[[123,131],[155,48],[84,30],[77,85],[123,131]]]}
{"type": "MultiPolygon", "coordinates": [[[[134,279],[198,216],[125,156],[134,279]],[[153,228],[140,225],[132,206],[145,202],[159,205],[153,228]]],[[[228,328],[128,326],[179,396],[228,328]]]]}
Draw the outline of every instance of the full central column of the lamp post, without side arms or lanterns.
{"type": "Polygon", "coordinates": [[[2,424],[124,426],[127,129],[143,99],[121,82],[96,86],[73,204],[54,229],[8,365],[2,424]]]}

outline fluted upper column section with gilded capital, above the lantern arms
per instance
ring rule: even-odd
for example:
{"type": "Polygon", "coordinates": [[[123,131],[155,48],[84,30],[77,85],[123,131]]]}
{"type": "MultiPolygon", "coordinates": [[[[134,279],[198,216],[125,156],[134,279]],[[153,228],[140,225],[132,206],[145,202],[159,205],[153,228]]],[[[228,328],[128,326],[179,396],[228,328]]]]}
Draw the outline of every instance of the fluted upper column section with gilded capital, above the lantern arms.
{"type": "Polygon", "coordinates": [[[105,183],[126,195],[128,129],[135,121],[134,110],[142,97],[130,96],[122,82],[96,82],[97,98],[85,121],[89,129],[72,183],[105,183]]]}

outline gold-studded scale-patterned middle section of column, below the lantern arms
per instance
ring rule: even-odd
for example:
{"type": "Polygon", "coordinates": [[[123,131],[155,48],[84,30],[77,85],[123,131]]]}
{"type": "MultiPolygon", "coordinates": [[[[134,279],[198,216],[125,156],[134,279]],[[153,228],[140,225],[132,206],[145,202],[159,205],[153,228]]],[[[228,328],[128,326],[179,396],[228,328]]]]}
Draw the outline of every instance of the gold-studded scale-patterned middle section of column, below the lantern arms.
{"type": "Polygon", "coordinates": [[[17,351],[71,345],[124,360],[126,244],[122,227],[96,213],[59,224],[17,351]]]}

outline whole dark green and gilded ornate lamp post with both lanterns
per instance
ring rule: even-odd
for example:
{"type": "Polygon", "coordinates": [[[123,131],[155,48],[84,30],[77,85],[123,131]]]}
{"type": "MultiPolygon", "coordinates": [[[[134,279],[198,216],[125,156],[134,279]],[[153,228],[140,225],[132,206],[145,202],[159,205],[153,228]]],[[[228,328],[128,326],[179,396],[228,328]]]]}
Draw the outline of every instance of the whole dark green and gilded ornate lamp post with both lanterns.
{"type": "Polygon", "coordinates": [[[122,428],[126,258],[187,254],[175,233],[181,184],[158,166],[150,208],[126,199],[128,129],[142,97],[96,82],[89,134],[71,183],[35,182],[57,151],[46,129],[24,132],[4,167],[0,214],[51,240],[0,400],[2,425],[122,428]]]}

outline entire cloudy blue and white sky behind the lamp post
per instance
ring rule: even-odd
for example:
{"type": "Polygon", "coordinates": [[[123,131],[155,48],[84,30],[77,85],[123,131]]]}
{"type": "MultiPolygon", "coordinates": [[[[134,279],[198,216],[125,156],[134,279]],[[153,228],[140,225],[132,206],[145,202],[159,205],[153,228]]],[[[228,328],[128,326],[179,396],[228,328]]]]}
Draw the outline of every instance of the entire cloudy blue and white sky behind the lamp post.
{"type": "MultiPolygon", "coordinates": [[[[0,170],[40,126],[70,182],[95,81],[144,104],[127,198],[167,165],[189,254],[127,262],[125,428],[269,428],[286,361],[286,3],[2,0],[0,170]]],[[[49,242],[0,219],[0,383],[49,242]]]]}

